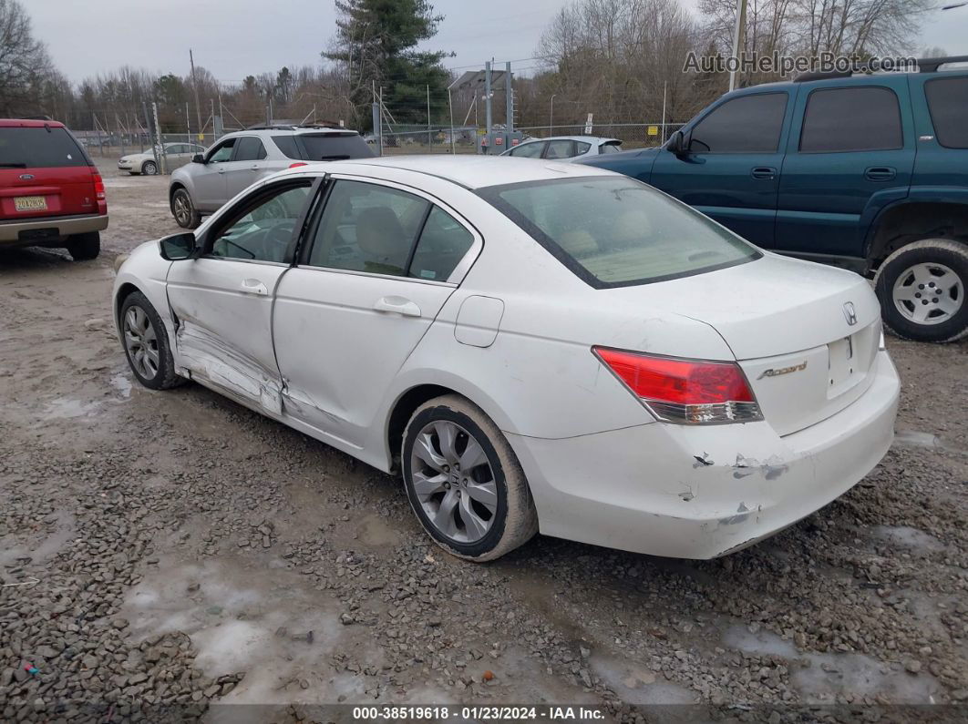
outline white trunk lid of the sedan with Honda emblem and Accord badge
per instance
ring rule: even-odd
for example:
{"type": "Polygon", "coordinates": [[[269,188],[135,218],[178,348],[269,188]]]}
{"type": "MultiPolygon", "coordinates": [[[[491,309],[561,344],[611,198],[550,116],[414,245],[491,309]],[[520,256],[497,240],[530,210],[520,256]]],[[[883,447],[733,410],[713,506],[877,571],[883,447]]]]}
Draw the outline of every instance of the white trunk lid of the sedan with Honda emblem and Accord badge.
{"type": "Polygon", "coordinates": [[[766,254],[729,269],[608,293],[634,295],[645,308],[710,325],[780,435],[835,415],[873,381],[880,306],[866,279],[851,272],[766,254]]]}

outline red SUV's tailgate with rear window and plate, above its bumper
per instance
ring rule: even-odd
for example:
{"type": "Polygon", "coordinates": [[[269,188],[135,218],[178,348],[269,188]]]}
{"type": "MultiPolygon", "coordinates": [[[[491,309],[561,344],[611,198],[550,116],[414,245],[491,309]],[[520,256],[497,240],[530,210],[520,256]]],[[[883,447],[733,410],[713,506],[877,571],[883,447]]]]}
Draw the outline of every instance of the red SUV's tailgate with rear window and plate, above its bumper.
{"type": "Polygon", "coordinates": [[[0,126],[2,220],[105,213],[95,173],[60,126],[0,126]]]}

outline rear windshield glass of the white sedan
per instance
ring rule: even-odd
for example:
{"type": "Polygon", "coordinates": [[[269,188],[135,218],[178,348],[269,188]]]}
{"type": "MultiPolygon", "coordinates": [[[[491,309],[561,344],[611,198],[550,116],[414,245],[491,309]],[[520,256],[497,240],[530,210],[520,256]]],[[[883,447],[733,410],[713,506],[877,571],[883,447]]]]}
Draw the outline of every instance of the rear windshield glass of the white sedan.
{"type": "Polygon", "coordinates": [[[633,179],[556,179],[477,192],[599,289],[702,274],[762,256],[711,219],[633,179]]]}

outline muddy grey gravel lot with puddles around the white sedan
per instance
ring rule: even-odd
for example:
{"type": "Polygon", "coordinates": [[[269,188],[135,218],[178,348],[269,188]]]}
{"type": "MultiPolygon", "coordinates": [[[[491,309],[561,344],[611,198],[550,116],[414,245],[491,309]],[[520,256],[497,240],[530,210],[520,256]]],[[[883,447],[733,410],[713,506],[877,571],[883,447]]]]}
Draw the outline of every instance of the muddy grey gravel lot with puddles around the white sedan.
{"type": "Polygon", "coordinates": [[[695,563],[539,536],[468,565],[398,479],[201,387],[137,387],[111,263],[177,227],[166,178],[105,165],[99,260],[0,252],[0,720],[338,702],[963,720],[901,705],[968,700],[968,343],[890,339],[891,452],[751,549],[695,563]]]}

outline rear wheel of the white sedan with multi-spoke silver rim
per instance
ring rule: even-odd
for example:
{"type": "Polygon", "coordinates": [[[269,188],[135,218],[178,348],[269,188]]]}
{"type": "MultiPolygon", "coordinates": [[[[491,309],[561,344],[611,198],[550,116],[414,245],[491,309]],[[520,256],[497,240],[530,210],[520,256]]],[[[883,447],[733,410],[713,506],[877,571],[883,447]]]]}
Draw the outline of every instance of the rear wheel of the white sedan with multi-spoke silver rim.
{"type": "Polygon", "coordinates": [[[468,399],[449,394],[417,408],[401,452],[410,506],[454,556],[493,561],[537,533],[537,512],[514,450],[468,399]]]}

